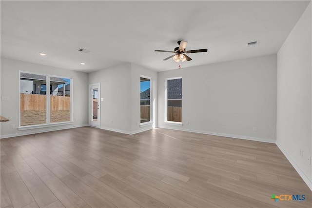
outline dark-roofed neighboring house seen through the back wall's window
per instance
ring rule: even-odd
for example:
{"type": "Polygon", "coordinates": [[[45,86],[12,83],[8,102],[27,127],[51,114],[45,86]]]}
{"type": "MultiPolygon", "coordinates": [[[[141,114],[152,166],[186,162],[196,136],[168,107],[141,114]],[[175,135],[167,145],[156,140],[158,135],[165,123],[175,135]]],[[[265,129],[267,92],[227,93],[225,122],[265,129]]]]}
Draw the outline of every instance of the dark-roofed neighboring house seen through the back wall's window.
{"type": "Polygon", "coordinates": [[[182,79],[168,80],[168,106],[182,106],[182,79]]]}

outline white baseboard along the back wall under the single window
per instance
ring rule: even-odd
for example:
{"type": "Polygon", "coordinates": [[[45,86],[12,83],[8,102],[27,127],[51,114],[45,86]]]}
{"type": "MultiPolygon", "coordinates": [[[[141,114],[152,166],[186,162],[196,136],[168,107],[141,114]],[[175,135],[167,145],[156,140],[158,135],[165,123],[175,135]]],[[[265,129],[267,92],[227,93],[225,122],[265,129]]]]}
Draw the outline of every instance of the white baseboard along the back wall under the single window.
{"type": "Polygon", "coordinates": [[[241,135],[234,135],[234,134],[224,134],[224,133],[217,133],[217,132],[211,132],[211,131],[201,131],[201,130],[194,130],[194,129],[185,129],[185,128],[179,128],[179,127],[175,127],[175,126],[167,126],[167,125],[158,125],[158,127],[159,128],[179,130],[179,131],[188,131],[188,132],[194,132],[194,133],[200,133],[200,134],[209,134],[209,135],[222,136],[222,137],[231,137],[231,138],[235,138],[235,139],[245,139],[245,140],[252,140],[252,141],[257,141],[257,142],[275,143],[275,140],[273,140],[273,139],[264,139],[264,138],[241,136],[241,135]]]}

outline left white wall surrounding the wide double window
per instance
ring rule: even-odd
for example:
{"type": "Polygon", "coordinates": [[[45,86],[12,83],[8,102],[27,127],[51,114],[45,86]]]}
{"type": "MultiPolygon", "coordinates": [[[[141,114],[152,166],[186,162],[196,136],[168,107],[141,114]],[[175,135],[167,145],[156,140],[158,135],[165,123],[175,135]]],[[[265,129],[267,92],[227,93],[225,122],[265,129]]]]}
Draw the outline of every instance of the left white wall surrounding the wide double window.
{"type": "Polygon", "coordinates": [[[35,63],[22,62],[1,58],[1,97],[8,96],[10,100],[1,100],[1,116],[10,122],[1,122],[1,138],[70,128],[88,124],[88,74],[61,68],[55,68],[35,63]],[[19,125],[19,71],[30,71],[43,74],[59,75],[73,78],[73,124],[58,127],[45,127],[33,130],[17,129],[19,125]],[[76,121],[77,119],[77,121],[76,121]],[[15,125],[15,128],[11,128],[15,125]]]}

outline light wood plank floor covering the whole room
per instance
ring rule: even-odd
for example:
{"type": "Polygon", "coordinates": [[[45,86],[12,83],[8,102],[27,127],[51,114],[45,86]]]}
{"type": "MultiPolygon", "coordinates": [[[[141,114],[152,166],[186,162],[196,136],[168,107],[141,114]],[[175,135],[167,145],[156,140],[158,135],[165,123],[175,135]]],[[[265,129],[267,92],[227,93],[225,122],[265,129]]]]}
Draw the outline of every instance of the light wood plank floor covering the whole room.
{"type": "Polygon", "coordinates": [[[274,144],[82,127],[1,139],[1,208],[311,208],[274,144]],[[272,194],[304,201],[271,200],[272,194]]]}

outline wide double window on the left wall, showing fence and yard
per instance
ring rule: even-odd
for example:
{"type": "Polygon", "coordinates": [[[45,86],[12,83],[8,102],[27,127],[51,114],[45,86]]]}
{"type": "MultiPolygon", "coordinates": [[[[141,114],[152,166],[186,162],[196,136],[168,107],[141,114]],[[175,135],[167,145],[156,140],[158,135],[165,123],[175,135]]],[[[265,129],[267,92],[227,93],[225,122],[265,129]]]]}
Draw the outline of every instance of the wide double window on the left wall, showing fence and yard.
{"type": "Polygon", "coordinates": [[[20,72],[20,126],[71,121],[71,82],[71,78],[20,72]]]}

